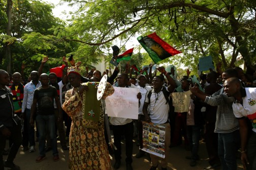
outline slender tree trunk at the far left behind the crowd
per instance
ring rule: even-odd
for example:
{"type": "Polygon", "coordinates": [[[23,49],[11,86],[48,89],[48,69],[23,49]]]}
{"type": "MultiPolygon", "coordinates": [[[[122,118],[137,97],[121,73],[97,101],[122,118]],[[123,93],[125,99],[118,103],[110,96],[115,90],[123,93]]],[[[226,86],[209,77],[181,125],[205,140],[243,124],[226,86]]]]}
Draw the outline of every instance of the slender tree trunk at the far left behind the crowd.
{"type": "MultiPolygon", "coordinates": [[[[8,16],[8,25],[6,28],[6,34],[12,36],[12,0],[7,1],[7,16],[8,16]]],[[[5,55],[6,55],[6,62],[7,62],[7,72],[11,73],[11,45],[6,43],[5,55]]]]}

